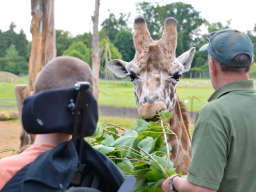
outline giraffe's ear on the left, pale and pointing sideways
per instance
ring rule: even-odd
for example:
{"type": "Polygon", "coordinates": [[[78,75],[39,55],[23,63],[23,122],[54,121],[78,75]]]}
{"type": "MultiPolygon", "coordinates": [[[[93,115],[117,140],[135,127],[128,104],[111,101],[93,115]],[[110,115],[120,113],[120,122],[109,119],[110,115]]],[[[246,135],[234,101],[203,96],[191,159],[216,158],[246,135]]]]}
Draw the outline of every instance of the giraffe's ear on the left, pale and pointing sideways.
{"type": "Polygon", "coordinates": [[[124,78],[128,75],[128,71],[126,70],[127,64],[127,62],[122,60],[111,60],[106,63],[106,67],[111,70],[116,77],[124,78]]]}

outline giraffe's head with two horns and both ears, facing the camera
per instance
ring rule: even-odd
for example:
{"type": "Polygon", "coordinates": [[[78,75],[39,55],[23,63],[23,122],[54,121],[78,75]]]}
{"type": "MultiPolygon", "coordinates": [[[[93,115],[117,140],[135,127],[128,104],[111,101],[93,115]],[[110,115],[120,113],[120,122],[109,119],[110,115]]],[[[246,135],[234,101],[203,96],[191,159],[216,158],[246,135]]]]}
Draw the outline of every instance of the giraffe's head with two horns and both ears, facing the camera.
{"type": "Polygon", "coordinates": [[[106,66],[117,77],[130,77],[140,116],[152,118],[157,111],[172,110],[177,101],[177,83],[187,72],[195,54],[195,47],[175,57],[177,46],[177,20],[165,20],[162,38],[154,41],[145,19],[134,22],[134,59],[127,63],[111,60],[106,66]]]}

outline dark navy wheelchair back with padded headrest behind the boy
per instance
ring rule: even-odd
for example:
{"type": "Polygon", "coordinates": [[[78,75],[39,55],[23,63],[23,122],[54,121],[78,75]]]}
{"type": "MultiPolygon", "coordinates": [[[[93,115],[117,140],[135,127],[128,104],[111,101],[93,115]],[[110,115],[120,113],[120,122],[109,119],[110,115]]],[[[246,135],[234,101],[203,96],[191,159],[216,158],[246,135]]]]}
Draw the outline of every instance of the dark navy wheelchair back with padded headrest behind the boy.
{"type": "Polygon", "coordinates": [[[72,139],[40,154],[4,186],[11,191],[131,191],[136,183],[125,179],[117,166],[92,148],[84,137],[97,127],[98,105],[90,83],[36,93],[24,99],[22,125],[30,134],[64,132],[72,139]]]}

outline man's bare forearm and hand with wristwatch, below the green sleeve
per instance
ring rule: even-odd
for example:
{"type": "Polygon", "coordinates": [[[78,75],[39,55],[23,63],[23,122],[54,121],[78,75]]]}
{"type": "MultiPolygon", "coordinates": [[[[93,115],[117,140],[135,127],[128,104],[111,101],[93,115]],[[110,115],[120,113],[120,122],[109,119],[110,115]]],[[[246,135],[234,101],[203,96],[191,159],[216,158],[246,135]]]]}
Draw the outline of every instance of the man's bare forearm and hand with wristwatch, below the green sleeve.
{"type": "MultiPolygon", "coordinates": [[[[173,175],[174,176],[174,175],[173,175]]],[[[169,186],[169,182],[172,179],[172,177],[168,177],[166,180],[164,180],[161,188],[164,192],[172,192],[169,186]]],[[[173,179],[173,184],[175,186],[175,189],[179,192],[216,192],[214,189],[209,189],[209,188],[204,188],[202,186],[195,185],[191,182],[189,182],[186,178],[181,178],[181,177],[175,177],[173,179]]]]}

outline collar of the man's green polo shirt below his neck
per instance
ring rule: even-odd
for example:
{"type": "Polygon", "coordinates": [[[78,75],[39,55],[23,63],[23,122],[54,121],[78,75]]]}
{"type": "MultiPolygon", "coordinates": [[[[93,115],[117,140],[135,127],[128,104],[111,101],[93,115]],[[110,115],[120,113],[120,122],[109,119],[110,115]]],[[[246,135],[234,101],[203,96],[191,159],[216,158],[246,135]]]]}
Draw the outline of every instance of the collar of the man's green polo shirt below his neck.
{"type": "Polygon", "coordinates": [[[211,97],[208,99],[208,102],[212,100],[219,99],[221,95],[232,91],[241,91],[241,90],[249,90],[254,89],[253,80],[246,81],[234,81],[232,83],[227,83],[218,88],[214,93],[212,93],[211,97]]]}

